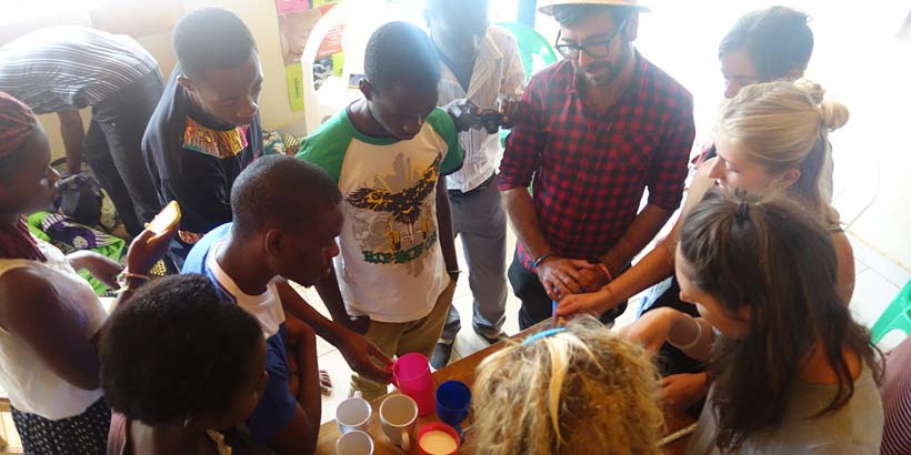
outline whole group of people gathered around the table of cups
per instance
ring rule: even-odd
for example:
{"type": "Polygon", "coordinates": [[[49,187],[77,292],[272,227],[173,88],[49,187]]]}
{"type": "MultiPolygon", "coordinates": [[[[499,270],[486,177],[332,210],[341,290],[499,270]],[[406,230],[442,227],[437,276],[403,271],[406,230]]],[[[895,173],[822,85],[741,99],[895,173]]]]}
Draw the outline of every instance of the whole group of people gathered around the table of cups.
{"type": "Polygon", "coordinates": [[[633,46],[643,9],[541,2],[564,60],[527,84],[488,9],[428,0],[430,33],[380,27],[363,98],[297,156],[263,155],[259,52],[229,11],[178,22],[167,81],[134,41],[89,29],[0,48],[0,385],[27,453],[313,453],[316,336],[367,400],[388,392],[396,356],[449,363],[457,236],[479,336],[507,337],[508,283],[522,328],[569,321],[479,366],[472,453],[657,454],[662,405],[698,416],[691,454],[911,449],[911,344],[883,365],[848,309],[827,136],[848,110],[799,80],[808,17],[754,11],[724,38],[714,140],[673,229],[633,265],[683,201],[694,139],[692,97],[633,46]],[[511,128],[505,150],[472,128],[487,108],[511,128]],[[84,151],[121,211],[126,266],[26,228],[60,179],[44,112],[69,172],[84,151]],[[171,200],[180,225],[143,230],[171,200]],[[162,256],[181,273],[150,280],[162,256]],[[109,314],[77,270],[119,287],[109,314]],[[314,286],[331,320],[290,282],[314,286]]]}

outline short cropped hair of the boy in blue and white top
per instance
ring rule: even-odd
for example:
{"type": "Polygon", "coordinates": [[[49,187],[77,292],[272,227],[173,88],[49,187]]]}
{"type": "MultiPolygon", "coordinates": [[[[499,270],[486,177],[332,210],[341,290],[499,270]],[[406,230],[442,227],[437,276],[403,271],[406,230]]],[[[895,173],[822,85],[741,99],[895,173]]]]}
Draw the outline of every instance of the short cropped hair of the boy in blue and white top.
{"type": "Polygon", "coordinates": [[[318,165],[286,155],[263,156],[234,181],[231,230],[241,239],[273,225],[300,231],[341,199],[339,186],[318,165]]]}

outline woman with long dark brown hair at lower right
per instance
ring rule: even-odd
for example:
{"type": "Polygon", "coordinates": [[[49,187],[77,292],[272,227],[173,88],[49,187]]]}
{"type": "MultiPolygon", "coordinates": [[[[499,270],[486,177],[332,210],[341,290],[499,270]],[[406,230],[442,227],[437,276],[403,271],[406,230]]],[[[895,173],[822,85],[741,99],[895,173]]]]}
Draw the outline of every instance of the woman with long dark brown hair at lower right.
{"type": "Polygon", "coordinates": [[[881,366],[835,290],[831,235],[784,199],[712,191],[677,249],[680,297],[627,330],[707,360],[711,388],[687,454],[878,454],[881,366]]]}

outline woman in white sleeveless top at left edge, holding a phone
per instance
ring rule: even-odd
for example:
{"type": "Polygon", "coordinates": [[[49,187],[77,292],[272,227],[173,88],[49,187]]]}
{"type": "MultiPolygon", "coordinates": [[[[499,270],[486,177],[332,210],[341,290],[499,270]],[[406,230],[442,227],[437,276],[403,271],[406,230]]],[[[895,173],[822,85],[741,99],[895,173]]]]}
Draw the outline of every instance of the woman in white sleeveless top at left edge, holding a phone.
{"type": "MultiPolygon", "coordinates": [[[[120,265],[33,237],[23,215],[44,210],[59,175],[31,110],[0,92],[0,386],[26,453],[104,453],[110,411],[98,387],[94,337],[104,311],[74,269],[113,287],[120,265]]],[[[130,246],[121,297],[148,280],[170,235],[143,232],[130,246]]]]}

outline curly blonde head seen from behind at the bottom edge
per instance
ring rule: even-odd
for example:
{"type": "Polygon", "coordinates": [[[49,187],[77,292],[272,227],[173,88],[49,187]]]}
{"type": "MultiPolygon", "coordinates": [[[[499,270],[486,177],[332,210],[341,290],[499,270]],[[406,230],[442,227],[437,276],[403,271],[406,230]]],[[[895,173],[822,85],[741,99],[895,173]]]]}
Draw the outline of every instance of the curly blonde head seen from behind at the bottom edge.
{"type": "Polygon", "coordinates": [[[661,453],[658,372],[639,346],[590,316],[538,336],[478,366],[470,453],[661,453]]]}

